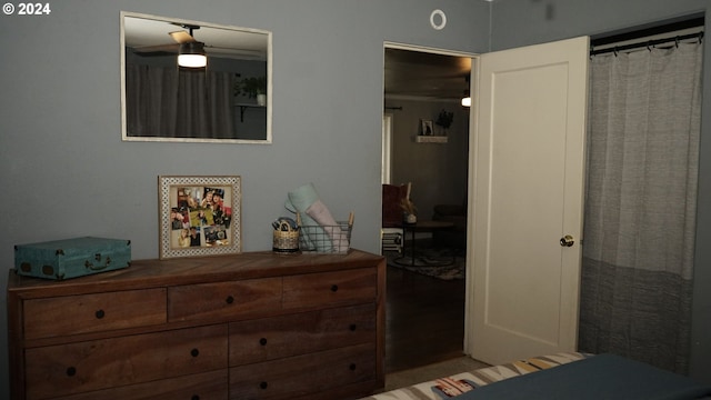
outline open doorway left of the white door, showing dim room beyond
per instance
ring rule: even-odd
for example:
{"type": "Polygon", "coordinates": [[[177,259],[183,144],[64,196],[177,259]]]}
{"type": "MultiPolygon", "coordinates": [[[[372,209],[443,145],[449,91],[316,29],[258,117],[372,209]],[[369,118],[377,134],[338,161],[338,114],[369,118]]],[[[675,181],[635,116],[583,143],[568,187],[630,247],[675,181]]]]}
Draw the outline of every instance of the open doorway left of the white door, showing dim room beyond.
{"type": "MultiPolygon", "coordinates": [[[[381,180],[391,184],[411,183],[418,222],[432,220],[437,206],[467,209],[470,111],[461,106],[461,99],[470,91],[472,57],[385,43],[381,180]],[[442,113],[451,116],[451,123],[437,123],[442,122],[439,120],[442,113]],[[431,127],[432,131],[425,132],[422,127],[431,127]]],[[[458,233],[463,234],[458,248],[462,256],[459,262],[465,269],[465,212],[457,218],[458,233]]],[[[409,233],[407,237],[410,240],[409,233]]],[[[447,247],[452,238],[418,233],[414,240],[418,249],[423,249],[435,241],[447,247]]],[[[412,244],[405,243],[404,251],[412,244]]],[[[443,280],[395,267],[392,259],[403,254],[385,252],[389,259],[385,371],[463,356],[464,279],[443,280]]]]}

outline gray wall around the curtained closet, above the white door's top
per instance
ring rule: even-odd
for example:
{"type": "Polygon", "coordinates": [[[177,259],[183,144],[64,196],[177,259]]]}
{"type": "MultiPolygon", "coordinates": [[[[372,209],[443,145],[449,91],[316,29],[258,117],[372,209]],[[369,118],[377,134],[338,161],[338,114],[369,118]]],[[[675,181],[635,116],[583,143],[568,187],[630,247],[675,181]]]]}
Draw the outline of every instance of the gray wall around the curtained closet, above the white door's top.
{"type": "MultiPolygon", "coordinates": [[[[697,12],[711,16],[711,1],[495,1],[491,48],[500,50],[583,34],[601,34],[697,12]]],[[[711,242],[711,46],[708,40],[704,44],[703,82],[691,376],[711,383],[711,247],[708,246],[711,242]]]]}

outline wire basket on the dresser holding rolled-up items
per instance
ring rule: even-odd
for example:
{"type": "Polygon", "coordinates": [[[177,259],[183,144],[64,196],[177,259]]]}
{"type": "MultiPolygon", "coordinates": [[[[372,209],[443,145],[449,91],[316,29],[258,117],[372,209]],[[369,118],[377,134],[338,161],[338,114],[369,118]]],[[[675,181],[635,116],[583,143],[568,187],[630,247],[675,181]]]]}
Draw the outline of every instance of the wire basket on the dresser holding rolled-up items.
{"type": "Polygon", "coordinates": [[[353,213],[351,212],[348,221],[336,223],[336,226],[300,226],[299,249],[302,252],[347,253],[353,231],[353,213]]]}

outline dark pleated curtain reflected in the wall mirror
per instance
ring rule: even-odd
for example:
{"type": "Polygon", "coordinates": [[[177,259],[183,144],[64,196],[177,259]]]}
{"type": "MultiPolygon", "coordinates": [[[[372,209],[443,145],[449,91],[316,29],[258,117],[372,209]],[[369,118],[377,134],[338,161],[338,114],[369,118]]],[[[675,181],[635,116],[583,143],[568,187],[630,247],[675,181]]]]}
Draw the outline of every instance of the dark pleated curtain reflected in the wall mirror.
{"type": "Polygon", "coordinates": [[[229,72],[126,67],[130,136],[233,138],[229,72]]]}

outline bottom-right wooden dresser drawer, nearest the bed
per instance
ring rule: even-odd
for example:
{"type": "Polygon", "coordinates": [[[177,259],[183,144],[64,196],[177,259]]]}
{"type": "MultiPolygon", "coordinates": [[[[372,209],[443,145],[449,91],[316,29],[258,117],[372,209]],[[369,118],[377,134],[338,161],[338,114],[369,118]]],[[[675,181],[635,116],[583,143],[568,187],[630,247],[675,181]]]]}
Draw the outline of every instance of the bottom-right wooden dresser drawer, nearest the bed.
{"type": "Polygon", "coordinates": [[[291,399],[374,378],[374,344],[359,344],[230,368],[230,399],[291,399]]]}

